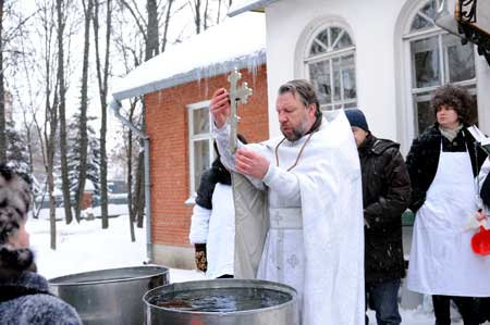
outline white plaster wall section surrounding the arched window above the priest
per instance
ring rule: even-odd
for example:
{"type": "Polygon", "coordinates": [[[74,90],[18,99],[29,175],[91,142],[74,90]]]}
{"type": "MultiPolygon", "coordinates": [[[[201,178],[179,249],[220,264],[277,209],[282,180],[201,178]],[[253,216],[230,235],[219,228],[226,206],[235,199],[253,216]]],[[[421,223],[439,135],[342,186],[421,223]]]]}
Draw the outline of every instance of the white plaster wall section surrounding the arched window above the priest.
{"type": "Polygon", "coordinates": [[[267,8],[267,66],[271,136],[280,135],[275,114],[277,89],[295,72],[296,47],[311,21],[341,17],[351,27],[356,45],[358,107],[371,130],[395,139],[393,33],[403,5],[401,0],[282,0],[267,8]]]}

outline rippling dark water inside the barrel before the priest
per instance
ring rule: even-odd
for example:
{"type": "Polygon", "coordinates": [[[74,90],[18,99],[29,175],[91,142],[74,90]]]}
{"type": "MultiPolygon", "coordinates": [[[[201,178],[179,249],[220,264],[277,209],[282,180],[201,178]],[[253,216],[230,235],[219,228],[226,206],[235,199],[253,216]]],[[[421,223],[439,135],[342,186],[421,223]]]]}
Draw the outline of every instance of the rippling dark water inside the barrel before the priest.
{"type": "Polygon", "coordinates": [[[286,292],[268,288],[207,288],[166,292],[149,303],[164,309],[192,312],[231,313],[280,305],[292,300],[286,292]]]}

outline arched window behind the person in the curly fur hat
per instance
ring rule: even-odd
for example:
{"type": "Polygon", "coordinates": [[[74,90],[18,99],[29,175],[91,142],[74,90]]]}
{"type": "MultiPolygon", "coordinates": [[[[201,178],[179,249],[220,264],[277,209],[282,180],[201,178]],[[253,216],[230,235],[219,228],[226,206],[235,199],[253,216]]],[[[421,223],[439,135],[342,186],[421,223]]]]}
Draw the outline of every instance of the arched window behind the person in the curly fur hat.
{"type": "MultiPolygon", "coordinates": [[[[462,45],[461,38],[436,26],[440,0],[429,0],[413,13],[403,40],[411,60],[411,95],[414,108],[414,136],[434,122],[430,99],[436,88],[446,84],[466,87],[475,97],[476,72],[473,45],[462,45]]],[[[477,122],[474,108],[473,122],[477,122]]]]}

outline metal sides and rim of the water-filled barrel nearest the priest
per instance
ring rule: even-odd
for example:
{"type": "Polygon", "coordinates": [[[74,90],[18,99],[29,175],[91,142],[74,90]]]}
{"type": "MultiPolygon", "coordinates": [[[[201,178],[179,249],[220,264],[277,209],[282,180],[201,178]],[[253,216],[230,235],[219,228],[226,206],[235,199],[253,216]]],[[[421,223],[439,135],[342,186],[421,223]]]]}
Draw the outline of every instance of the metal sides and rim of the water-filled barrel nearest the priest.
{"type": "MultiPolygon", "coordinates": [[[[290,286],[256,279],[215,279],[175,283],[148,291],[143,300],[145,302],[145,324],[146,325],[298,325],[297,293],[290,286]],[[247,309],[238,311],[203,311],[203,310],[185,310],[169,307],[166,298],[175,299],[179,304],[180,292],[193,292],[198,297],[206,295],[212,296],[211,299],[219,301],[216,297],[220,295],[220,290],[230,292],[230,290],[244,290],[248,293],[244,295],[244,299],[248,299],[249,292],[254,292],[254,297],[264,297],[265,291],[280,292],[282,297],[281,303],[269,305],[266,308],[247,309]],[[212,293],[211,293],[212,292],[212,293]]],[[[173,302],[171,302],[173,303],[173,302]]],[[[180,302],[182,303],[182,302],[180,302]]]]}

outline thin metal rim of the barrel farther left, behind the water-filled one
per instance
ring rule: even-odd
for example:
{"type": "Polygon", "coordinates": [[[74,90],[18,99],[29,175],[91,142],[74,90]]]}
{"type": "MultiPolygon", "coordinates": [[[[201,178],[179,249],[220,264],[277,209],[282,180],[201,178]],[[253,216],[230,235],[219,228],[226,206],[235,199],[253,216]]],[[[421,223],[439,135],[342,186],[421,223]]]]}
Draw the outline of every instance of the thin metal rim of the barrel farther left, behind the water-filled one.
{"type": "Polygon", "coordinates": [[[166,275],[166,274],[169,275],[168,267],[161,266],[161,265],[156,265],[156,264],[148,264],[148,265],[113,267],[113,268],[103,268],[103,270],[73,273],[73,274],[58,276],[58,277],[48,279],[48,284],[53,287],[90,286],[90,285],[100,285],[100,284],[134,282],[134,280],[138,280],[138,279],[151,278],[155,276],[166,275]],[[97,273],[103,273],[103,272],[110,272],[110,271],[117,271],[117,270],[118,271],[134,270],[134,268],[147,268],[147,270],[155,268],[155,272],[151,274],[148,274],[148,275],[134,276],[134,277],[130,277],[130,278],[106,279],[106,280],[96,280],[96,282],[63,283],[64,280],[73,279],[77,276],[88,276],[88,275],[93,275],[93,274],[97,274],[97,273]]]}

